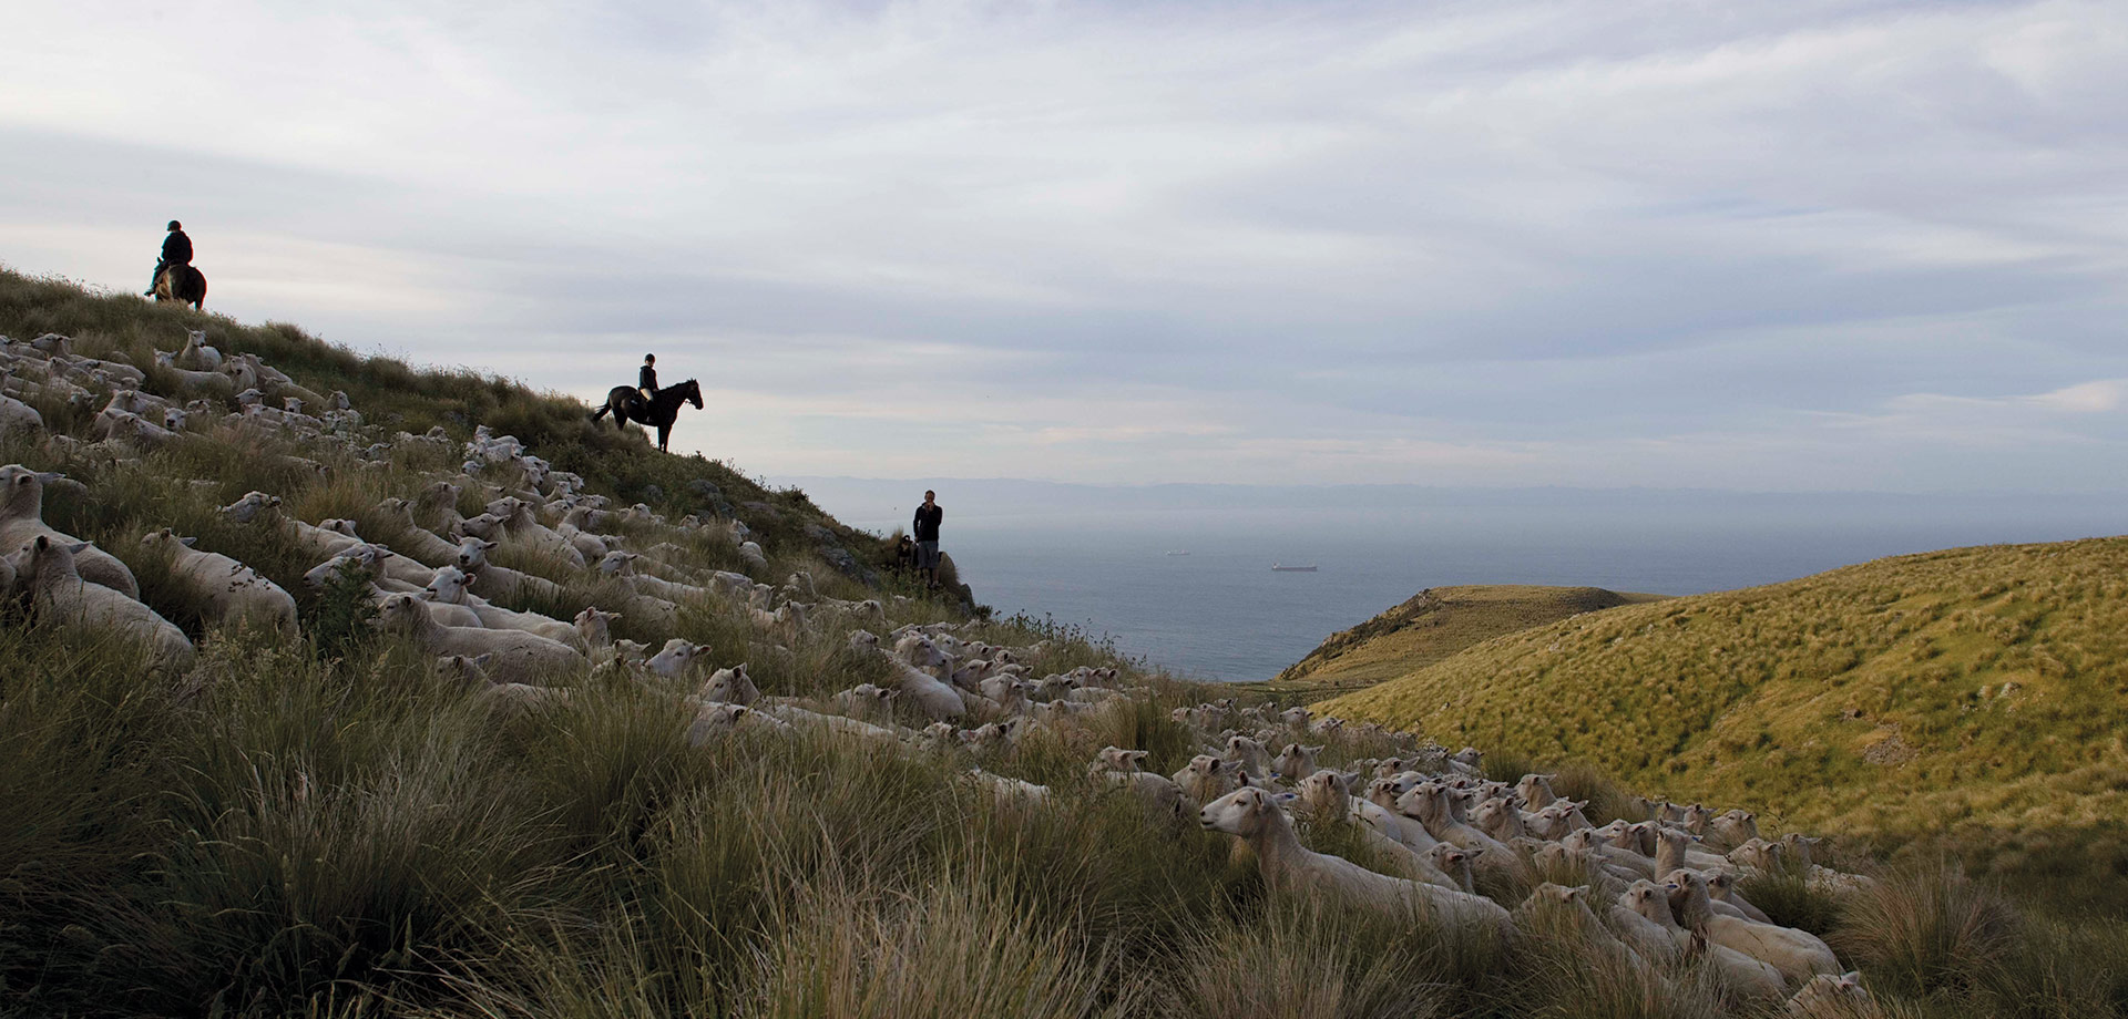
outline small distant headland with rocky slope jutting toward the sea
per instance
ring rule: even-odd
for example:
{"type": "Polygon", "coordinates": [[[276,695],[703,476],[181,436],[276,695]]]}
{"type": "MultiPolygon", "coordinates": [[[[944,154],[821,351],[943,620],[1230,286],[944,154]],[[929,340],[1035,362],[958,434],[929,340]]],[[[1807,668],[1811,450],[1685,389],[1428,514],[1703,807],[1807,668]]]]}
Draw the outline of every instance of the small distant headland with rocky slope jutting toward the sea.
{"type": "Polygon", "coordinates": [[[1426,668],[1466,647],[1532,625],[1653,602],[1653,594],[1602,587],[1464,585],[1430,587],[1351,630],[1330,634],[1273,681],[1281,689],[1364,689],[1426,668]]]}

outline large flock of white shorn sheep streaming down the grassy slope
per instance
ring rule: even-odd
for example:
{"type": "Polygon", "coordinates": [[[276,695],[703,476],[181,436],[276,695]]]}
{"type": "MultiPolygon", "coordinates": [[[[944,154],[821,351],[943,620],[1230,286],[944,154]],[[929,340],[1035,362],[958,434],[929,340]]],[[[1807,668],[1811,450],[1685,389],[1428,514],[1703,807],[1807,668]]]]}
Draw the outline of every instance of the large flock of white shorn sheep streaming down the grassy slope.
{"type": "MultiPolygon", "coordinates": [[[[394,451],[443,447],[443,430],[400,432],[387,440],[362,423],[345,394],[317,396],[255,355],[223,357],[194,332],[179,351],[160,351],[162,368],[192,398],[174,404],[140,391],[145,372],[130,364],[81,357],[64,336],[30,343],[0,338],[0,432],[36,430],[43,419],[23,396],[102,402],[94,442],[113,455],[168,445],[217,411],[226,428],[266,430],[298,442],[336,442],[375,464],[394,451]],[[279,406],[270,406],[268,400],[279,406]],[[317,408],[317,415],[311,411],[317,408]]],[[[45,436],[55,445],[92,445],[45,436]]],[[[81,449],[74,449],[77,453],[81,449]]],[[[862,683],[824,700],[764,696],[747,666],[709,670],[706,649],[672,636],[662,647],[615,640],[609,623],[621,615],[647,630],[677,630],[683,606],[741,615],[764,640],[796,642],[807,632],[855,623],[885,628],[877,600],[819,598],[811,577],[792,574],[772,587],[760,545],[745,523],[687,517],[666,523],[647,506],[615,511],[585,494],[583,479],[549,468],[511,436],[479,428],[464,442],[458,472],[423,481],[417,498],[392,498],[377,511],[398,523],[396,545],[364,540],[347,519],[302,521],[277,496],[251,491],[221,513],[270,528],[302,549],[315,568],[306,583],[362,583],[377,602],[377,625],[404,634],[451,683],[464,683],[513,711],[568,696],[575,679],[621,670],[683,689],[692,715],[687,740],[704,745],[751,728],[764,732],[821,730],[834,738],[875,740],[909,753],[998,751],[1045,725],[1077,725],[1083,715],[1136,711],[1149,698],[1126,687],[1113,668],[1077,668],[1036,679],[1026,662],[1047,651],[992,647],[953,623],[902,625],[883,636],[851,630],[849,645],[875,662],[885,683],[862,683]],[[483,513],[460,515],[475,491],[483,513]],[[636,521],[630,540],[604,534],[615,519],[636,521]],[[643,534],[664,534],[647,542],[643,534]],[[736,549],[749,572],[700,570],[672,540],[713,536],[736,549]],[[519,562],[553,570],[598,572],[609,604],[575,619],[553,619],[506,604],[551,602],[555,574],[511,570],[489,562],[496,549],[521,549],[519,562]],[[907,728],[896,719],[921,717],[907,728]]],[[[28,594],[40,619],[123,632],[143,640],[162,668],[183,670],[192,642],[183,630],[143,604],[128,566],[104,549],[45,523],[43,498],[53,485],[74,485],[23,466],[0,468],[0,594],[28,594]]],[[[170,581],[209,625],[298,625],[296,600],[243,562],[192,538],[155,530],[140,538],[168,555],[170,581]]],[[[841,632],[841,630],[832,630],[841,632]]],[[[1760,838],[1745,811],[1713,813],[1698,804],[1634,800],[1639,819],[1594,825],[1585,802],[1562,800],[1545,774],[1519,783],[1487,781],[1479,753],[1422,745],[1411,734],[1366,725],[1375,740],[1394,740],[1396,757],[1317,764],[1324,747],[1304,740],[1336,732],[1341,719],[1313,719],[1304,708],[1275,713],[1232,700],[1175,708],[1204,749],[1173,776],[1143,770],[1145,751],[1109,747],[1090,766],[1094,783],[1145,800],[1149,823],[1226,832],[1236,853],[1253,855],[1273,893],[1324,896],[1368,908],[1417,911],[1443,928],[1517,938],[1532,928],[1570,932],[1596,953],[1632,968],[1645,981],[1666,981],[1683,959],[1705,959],[1747,998],[1788,998],[1792,1015],[1832,1017],[1871,1008],[1853,972],[1841,972],[1815,936],[1773,923],[1739,893],[1739,881],[1760,870],[1802,872],[1809,881],[1853,889],[1866,879],[1817,866],[1813,840],[1790,834],[1760,838]],[[1351,825],[1375,868],[1317,853],[1300,842],[1294,817],[1313,825],[1351,825]],[[1392,870],[1392,872],[1383,872],[1392,870]],[[1530,889],[1513,911],[1479,889],[1530,889]]],[[[1353,728],[1360,732],[1362,728],[1353,728]]],[[[985,770],[966,781],[994,789],[1000,804],[1043,808],[1051,789],[985,770]]]]}

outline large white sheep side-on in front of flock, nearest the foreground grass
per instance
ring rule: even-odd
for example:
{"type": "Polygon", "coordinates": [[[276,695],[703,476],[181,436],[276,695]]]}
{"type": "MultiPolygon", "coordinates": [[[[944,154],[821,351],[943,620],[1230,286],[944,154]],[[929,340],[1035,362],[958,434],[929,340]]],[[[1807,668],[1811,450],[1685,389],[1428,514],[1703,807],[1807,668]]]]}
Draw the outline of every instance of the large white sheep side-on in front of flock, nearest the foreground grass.
{"type": "Polygon", "coordinates": [[[1279,811],[1273,794],[1264,789],[1234,789],[1204,804],[1200,823],[1247,842],[1256,851],[1264,881],[1277,893],[1313,893],[1396,913],[1417,908],[1466,932],[1490,930],[1500,938],[1511,934],[1507,911],[1492,900],[1377,874],[1349,859],[1302,847],[1285,811],[1279,811]]]}

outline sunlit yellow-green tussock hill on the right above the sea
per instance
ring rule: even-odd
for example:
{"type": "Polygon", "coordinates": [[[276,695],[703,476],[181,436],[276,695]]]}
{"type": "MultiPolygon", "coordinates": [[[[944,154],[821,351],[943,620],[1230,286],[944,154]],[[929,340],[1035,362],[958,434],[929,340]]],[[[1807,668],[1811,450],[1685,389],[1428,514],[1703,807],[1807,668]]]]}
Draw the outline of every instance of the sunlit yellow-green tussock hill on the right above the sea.
{"type": "Polygon", "coordinates": [[[1951,549],[1622,606],[1321,711],[1760,804],[1773,828],[1928,836],[2000,872],[2117,879],[2128,538],[1951,549]]]}

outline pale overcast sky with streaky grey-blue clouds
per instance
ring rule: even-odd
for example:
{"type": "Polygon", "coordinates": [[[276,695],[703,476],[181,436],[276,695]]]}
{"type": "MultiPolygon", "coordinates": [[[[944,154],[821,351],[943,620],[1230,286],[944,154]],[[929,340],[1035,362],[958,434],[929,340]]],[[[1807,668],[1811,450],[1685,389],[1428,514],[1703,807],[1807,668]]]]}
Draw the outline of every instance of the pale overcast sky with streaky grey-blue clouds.
{"type": "Polygon", "coordinates": [[[0,262],[764,474],[2128,479],[2128,4],[11,4],[0,262]]]}

